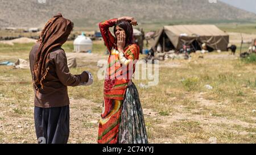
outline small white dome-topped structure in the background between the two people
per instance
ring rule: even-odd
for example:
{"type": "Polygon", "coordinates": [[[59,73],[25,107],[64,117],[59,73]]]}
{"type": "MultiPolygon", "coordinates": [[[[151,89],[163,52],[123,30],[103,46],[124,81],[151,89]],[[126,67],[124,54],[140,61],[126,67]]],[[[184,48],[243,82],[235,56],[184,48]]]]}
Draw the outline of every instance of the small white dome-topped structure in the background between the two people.
{"type": "Polygon", "coordinates": [[[84,32],[76,37],[73,44],[75,52],[92,52],[92,40],[86,37],[84,32]]]}

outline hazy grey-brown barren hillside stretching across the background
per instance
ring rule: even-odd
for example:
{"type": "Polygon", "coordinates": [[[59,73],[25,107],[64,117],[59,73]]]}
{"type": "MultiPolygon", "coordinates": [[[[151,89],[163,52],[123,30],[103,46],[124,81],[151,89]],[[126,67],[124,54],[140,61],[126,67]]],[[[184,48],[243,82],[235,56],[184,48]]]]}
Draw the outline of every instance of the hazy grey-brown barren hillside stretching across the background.
{"type": "Polygon", "coordinates": [[[101,20],[124,15],[140,23],[256,19],[251,12],[208,0],[0,0],[0,4],[0,27],[43,27],[57,12],[77,27],[96,26],[101,20]]]}

